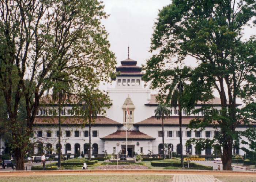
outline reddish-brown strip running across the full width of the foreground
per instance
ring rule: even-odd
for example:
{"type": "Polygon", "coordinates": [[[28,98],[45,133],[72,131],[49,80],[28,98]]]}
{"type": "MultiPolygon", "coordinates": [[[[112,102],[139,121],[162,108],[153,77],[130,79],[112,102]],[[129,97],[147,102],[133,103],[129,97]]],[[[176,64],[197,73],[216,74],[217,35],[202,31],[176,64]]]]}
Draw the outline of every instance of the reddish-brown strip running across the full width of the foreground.
{"type": "Polygon", "coordinates": [[[150,174],[150,175],[231,175],[252,176],[256,172],[243,171],[205,171],[205,170],[58,170],[58,171],[0,171],[0,176],[35,176],[35,175],[117,175],[117,174],[150,174]]]}

